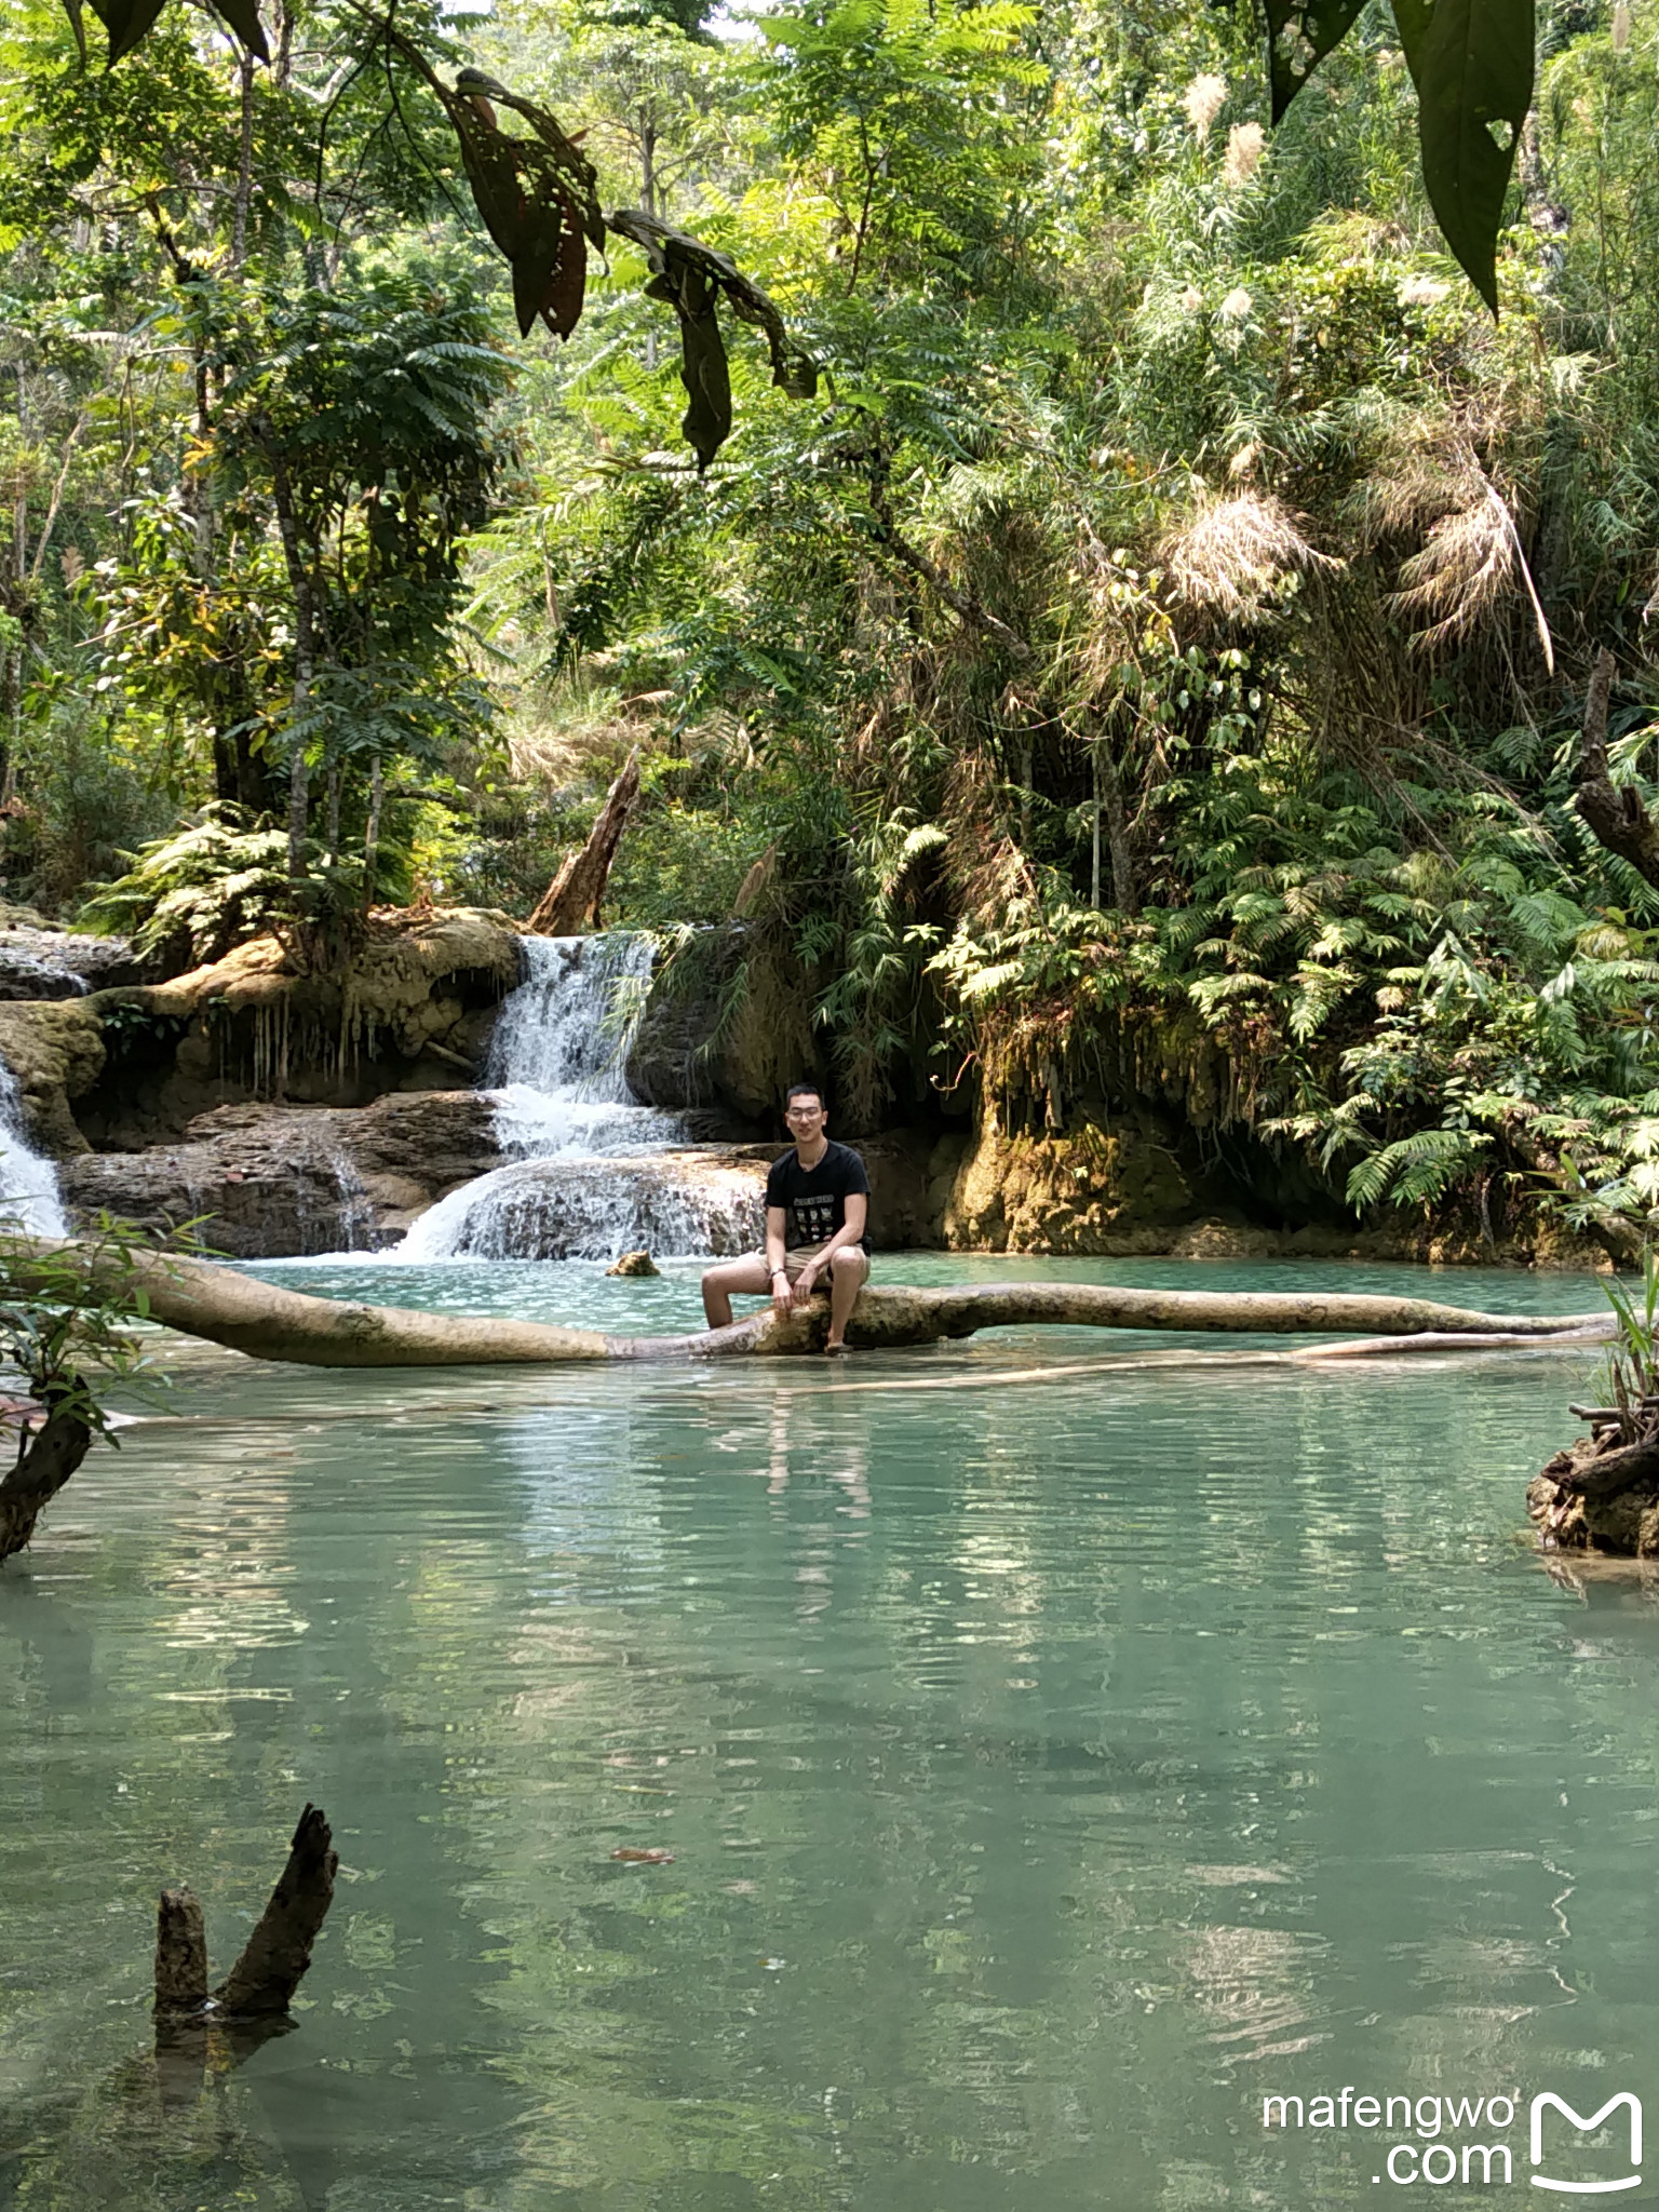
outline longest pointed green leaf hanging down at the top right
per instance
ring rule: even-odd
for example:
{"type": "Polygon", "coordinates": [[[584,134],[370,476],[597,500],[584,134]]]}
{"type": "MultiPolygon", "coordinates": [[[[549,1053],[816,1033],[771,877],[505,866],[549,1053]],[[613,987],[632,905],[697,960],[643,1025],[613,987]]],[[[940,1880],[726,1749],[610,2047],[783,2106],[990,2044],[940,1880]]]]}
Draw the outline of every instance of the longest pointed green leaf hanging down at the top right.
{"type": "Polygon", "coordinates": [[[1533,104],[1533,0],[1396,0],[1394,20],[1418,86],[1429,206],[1498,314],[1498,228],[1533,104]]]}

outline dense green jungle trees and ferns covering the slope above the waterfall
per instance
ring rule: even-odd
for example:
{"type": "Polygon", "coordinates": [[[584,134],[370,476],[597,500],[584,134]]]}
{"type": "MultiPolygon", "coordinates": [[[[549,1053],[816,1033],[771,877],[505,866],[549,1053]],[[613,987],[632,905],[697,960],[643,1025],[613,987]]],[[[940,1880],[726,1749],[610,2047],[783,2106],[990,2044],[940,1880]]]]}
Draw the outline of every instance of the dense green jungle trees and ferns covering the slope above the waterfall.
{"type": "Polygon", "coordinates": [[[639,743],[606,918],[723,922],[770,854],[721,989],[810,1006],[863,1121],[1150,1102],[1332,1208],[1498,1241],[1542,1203],[1628,1250],[1659,891],[1573,776],[1606,644],[1613,776],[1659,801],[1652,35],[1551,20],[1515,186],[1520,18],[1402,7],[1400,53],[1347,15],[1276,7],[1263,69],[1166,0],[810,0],[730,46],[511,0],[389,51],[307,0],[299,82],[274,55],[246,104],[179,11],[80,75],[27,0],[18,772],[82,701],[88,854],[243,810],[257,858],[117,898],[177,894],[197,958],[336,885],[524,914],[639,743]],[[1478,31],[1453,84],[1436,40],[1478,20],[1506,60],[1482,84],[1478,31]],[[385,69],[325,91],[347,55],[385,69]],[[473,146],[542,212],[641,210],[511,363],[449,106],[480,97],[542,146],[473,146]],[[577,111],[591,188],[542,122],[577,111]],[[772,358],[703,345],[739,268],[772,358]]]}

